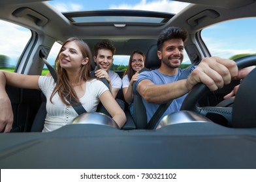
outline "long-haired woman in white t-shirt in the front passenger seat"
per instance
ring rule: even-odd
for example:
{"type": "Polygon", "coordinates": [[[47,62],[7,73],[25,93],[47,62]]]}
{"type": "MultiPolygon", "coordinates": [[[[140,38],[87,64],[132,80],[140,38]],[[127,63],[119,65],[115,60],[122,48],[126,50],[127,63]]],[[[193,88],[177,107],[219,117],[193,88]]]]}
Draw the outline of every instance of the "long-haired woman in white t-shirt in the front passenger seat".
{"type": "Polygon", "coordinates": [[[78,38],[69,38],[61,47],[55,62],[57,83],[52,77],[0,72],[0,131],[12,129],[13,114],[5,85],[42,90],[46,96],[46,119],[43,132],[54,131],[71,123],[78,114],[72,105],[82,104],[87,112],[95,112],[101,101],[121,128],[126,121],[106,85],[89,77],[91,51],[78,38]]]}

